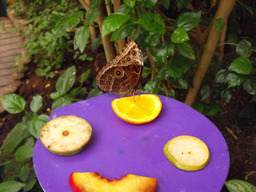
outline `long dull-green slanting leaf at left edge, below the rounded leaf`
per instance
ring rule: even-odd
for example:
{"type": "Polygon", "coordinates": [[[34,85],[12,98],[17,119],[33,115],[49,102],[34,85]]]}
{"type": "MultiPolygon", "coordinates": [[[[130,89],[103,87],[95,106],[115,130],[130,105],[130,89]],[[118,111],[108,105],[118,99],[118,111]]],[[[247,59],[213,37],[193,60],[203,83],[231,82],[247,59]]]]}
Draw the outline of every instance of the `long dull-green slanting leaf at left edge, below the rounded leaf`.
{"type": "Polygon", "coordinates": [[[1,148],[3,148],[4,153],[10,154],[20,144],[20,142],[28,136],[28,125],[24,123],[18,123],[8,134],[1,148]]]}

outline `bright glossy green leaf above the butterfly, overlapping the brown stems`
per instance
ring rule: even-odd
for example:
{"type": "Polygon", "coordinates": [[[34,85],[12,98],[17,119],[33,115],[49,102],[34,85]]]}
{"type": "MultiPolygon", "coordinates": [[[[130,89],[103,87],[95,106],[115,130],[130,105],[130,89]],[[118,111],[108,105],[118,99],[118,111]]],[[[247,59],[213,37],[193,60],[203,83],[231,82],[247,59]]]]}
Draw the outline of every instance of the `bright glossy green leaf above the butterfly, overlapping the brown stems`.
{"type": "Polygon", "coordinates": [[[124,13],[113,13],[106,17],[102,24],[102,37],[120,28],[130,17],[131,15],[125,15],[124,13]]]}

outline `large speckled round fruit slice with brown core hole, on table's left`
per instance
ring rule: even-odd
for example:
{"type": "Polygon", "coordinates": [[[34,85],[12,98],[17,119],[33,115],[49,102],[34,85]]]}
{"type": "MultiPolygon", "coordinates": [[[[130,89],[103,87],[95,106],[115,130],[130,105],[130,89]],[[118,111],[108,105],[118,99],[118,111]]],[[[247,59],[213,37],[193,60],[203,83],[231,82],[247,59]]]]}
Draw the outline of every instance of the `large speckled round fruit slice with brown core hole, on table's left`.
{"type": "Polygon", "coordinates": [[[91,125],[74,115],[54,118],[44,125],[40,133],[44,147],[60,156],[71,156],[81,152],[91,136],[91,125]]]}

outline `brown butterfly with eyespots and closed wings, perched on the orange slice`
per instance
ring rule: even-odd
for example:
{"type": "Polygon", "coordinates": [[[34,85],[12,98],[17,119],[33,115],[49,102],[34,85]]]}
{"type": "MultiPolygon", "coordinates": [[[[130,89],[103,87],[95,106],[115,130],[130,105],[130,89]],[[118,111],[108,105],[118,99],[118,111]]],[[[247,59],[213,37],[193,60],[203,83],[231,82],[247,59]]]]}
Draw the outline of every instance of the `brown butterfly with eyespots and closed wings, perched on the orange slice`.
{"type": "Polygon", "coordinates": [[[105,65],[96,77],[97,85],[104,92],[132,95],[137,92],[143,70],[140,46],[130,40],[113,61],[105,65]]]}

